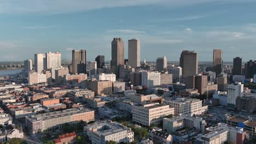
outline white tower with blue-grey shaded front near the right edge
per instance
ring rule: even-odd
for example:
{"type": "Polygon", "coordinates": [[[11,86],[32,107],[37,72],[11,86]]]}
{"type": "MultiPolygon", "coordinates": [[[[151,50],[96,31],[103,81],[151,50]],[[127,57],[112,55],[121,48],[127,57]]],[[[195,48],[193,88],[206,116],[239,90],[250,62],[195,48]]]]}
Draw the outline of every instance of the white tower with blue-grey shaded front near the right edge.
{"type": "Polygon", "coordinates": [[[236,82],[228,85],[228,104],[236,105],[236,98],[243,96],[243,84],[236,82]]]}

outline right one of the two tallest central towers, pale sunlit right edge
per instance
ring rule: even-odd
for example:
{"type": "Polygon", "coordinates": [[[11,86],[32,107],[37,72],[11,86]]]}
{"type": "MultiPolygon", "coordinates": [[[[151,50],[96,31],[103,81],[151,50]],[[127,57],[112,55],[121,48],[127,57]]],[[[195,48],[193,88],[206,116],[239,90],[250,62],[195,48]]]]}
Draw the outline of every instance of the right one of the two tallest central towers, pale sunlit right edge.
{"type": "Polygon", "coordinates": [[[141,41],[138,39],[128,40],[128,61],[132,68],[141,66],[141,41]]]}

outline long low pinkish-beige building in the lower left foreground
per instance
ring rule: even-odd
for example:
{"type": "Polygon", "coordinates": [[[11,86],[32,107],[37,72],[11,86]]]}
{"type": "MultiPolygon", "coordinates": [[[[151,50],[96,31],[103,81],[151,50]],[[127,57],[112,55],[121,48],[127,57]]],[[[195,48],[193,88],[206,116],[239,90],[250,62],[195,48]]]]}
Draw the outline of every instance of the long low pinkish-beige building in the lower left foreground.
{"type": "Polygon", "coordinates": [[[78,124],[81,121],[87,123],[94,121],[94,111],[79,107],[77,109],[27,116],[25,120],[28,133],[32,135],[42,133],[45,130],[62,129],[65,123],[78,124]]]}

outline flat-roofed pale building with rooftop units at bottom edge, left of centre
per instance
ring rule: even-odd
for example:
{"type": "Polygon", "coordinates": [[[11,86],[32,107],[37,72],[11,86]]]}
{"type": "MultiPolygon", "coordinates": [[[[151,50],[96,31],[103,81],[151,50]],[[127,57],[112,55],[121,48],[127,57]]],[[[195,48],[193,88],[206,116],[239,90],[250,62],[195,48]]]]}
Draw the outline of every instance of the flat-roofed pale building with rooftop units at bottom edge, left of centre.
{"type": "Polygon", "coordinates": [[[130,143],[134,141],[134,132],[116,122],[96,122],[84,127],[84,135],[88,135],[92,144],[104,144],[108,141],[130,143]]]}

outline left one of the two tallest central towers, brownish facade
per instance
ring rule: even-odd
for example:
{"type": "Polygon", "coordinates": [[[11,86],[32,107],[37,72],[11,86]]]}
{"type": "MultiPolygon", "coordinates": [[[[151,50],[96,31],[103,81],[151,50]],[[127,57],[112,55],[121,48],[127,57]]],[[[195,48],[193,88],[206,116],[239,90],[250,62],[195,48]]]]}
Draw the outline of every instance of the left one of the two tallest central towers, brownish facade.
{"type": "Polygon", "coordinates": [[[111,69],[119,77],[118,67],[124,65],[124,42],[121,38],[114,38],[111,48],[111,69]]]}

